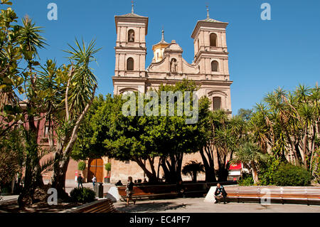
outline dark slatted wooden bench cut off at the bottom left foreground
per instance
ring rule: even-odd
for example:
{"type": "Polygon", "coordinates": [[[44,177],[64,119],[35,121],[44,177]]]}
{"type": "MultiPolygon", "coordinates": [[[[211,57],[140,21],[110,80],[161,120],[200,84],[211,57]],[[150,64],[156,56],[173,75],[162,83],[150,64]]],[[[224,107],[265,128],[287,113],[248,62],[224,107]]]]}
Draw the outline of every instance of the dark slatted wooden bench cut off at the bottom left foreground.
{"type": "Polygon", "coordinates": [[[101,199],[87,206],[81,206],[80,208],[76,208],[70,213],[117,213],[118,211],[114,208],[111,199],[101,199]]]}

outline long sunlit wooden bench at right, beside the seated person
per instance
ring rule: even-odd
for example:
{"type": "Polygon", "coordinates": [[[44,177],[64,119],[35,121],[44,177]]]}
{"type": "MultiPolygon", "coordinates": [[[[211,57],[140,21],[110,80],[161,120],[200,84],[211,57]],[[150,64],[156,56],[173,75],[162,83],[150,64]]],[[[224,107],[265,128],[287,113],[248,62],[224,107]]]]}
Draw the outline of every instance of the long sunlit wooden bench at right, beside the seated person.
{"type": "Polygon", "coordinates": [[[320,187],[225,186],[228,201],[320,205],[320,187]]]}

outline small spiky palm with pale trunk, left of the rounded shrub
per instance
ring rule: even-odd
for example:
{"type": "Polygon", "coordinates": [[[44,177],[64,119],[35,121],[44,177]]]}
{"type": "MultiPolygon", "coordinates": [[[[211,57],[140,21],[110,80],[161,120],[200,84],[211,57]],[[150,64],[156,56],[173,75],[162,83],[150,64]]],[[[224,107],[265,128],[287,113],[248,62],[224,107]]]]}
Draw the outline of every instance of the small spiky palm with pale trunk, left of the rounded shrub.
{"type": "Polygon", "coordinates": [[[255,184],[259,182],[257,167],[260,162],[267,161],[267,154],[262,153],[257,144],[249,141],[240,146],[240,149],[235,152],[235,158],[231,161],[232,164],[242,162],[246,164],[252,171],[252,177],[255,184]]]}

